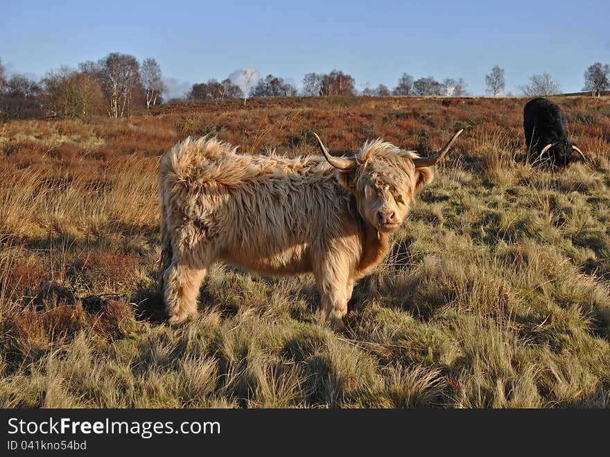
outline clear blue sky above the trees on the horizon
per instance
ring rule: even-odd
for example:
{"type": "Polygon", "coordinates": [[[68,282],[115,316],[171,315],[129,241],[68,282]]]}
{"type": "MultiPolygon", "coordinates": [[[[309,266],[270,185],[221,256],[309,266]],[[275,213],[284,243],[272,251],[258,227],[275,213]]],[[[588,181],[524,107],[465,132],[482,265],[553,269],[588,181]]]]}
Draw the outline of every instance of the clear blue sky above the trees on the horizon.
{"type": "MultiPolygon", "coordinates": [[[[505,68],[507,90],[547,71],[582,89],[593,62],[610,63],[610,1],[14,1],[0,3],[0,59],[40,78],[110,52],[154,57],[175,92],[241,67],[300,85],[340,69],[356,87],[464,78],[485,93],[505,68]]],[[[175,95],[175,94],[174,94],[175,95]]]]}

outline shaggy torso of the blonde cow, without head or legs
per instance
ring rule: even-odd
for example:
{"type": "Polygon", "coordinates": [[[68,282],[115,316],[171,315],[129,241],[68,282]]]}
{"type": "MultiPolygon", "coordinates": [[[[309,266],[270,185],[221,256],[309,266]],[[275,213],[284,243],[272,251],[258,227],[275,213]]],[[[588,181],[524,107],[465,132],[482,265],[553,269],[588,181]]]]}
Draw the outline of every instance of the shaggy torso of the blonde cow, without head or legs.
{"type": "Polygon", "coordinates": [[[162,219],[190,248],[213,245],[220,259],[270,275],[311,270],[312,250],[328,243],[359,249],[351,195],[322,157],[184,146],[164,157],[159,186],[162,219]]]}

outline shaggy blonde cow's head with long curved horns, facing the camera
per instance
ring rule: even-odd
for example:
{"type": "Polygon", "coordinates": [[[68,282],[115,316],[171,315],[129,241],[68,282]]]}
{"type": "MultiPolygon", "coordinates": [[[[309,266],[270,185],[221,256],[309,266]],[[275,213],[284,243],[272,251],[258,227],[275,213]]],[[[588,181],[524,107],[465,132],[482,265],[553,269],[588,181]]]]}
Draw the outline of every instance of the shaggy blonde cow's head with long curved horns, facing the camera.
{"type": "Polygon", "coordinates": [[[358,212],[380,232],[394,232],[417,192],[434,178],[433,166],[447,153],[460,130],[437,153],[419,157],[380,139],[367,141],[352,157],[333,157],[315,135],[322,154],[337,169],[337,179],[356,196],[358,212]]]}

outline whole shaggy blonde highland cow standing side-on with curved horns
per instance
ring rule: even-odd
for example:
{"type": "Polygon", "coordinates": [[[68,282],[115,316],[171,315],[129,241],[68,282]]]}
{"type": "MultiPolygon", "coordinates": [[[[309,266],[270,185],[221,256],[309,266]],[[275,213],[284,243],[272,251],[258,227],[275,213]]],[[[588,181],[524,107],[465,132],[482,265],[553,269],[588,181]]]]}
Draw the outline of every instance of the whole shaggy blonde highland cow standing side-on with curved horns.
{"type": "Polygon", "coordinates": [[[262,275],[313,273],[326,321],[343,327],[354,281],[388,252],[430,168],[430,157],[381,140],[352,157],[290,159],[237,154],[213,138],[187,138],[159,171],[159,285],[169,321],[197,314],[202,279],[216,260],[262,275]]]}

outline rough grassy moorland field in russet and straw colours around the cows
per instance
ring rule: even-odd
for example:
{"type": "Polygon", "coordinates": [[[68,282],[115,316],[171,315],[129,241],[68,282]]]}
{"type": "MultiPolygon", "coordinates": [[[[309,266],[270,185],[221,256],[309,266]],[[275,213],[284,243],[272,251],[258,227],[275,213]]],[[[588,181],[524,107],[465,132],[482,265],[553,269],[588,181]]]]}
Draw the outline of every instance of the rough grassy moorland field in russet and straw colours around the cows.
{"type": "Polygon", "coordinates": [[[176,103],[0,125],[0,406],[610,406],[610,98],[565,97],[589,157],[524,163],[521,98],[176,103]],[[156,293],[159,156],[188,135],[317,154],[467,128],[349,303],[313,278],[211,270],[179,329],[156,293]]]}

